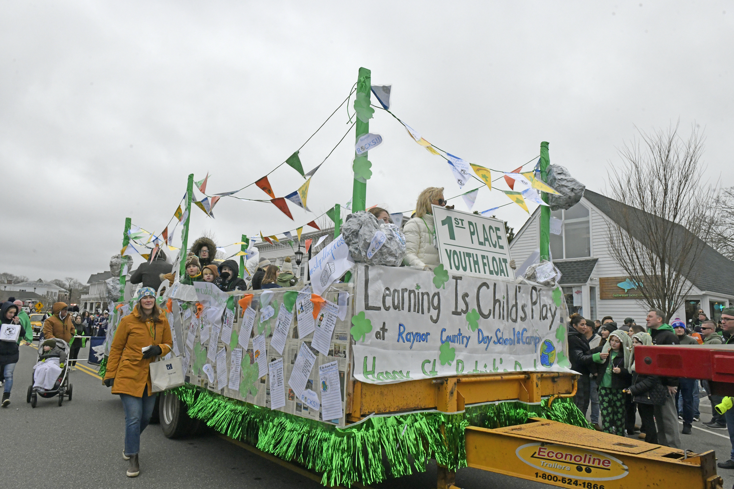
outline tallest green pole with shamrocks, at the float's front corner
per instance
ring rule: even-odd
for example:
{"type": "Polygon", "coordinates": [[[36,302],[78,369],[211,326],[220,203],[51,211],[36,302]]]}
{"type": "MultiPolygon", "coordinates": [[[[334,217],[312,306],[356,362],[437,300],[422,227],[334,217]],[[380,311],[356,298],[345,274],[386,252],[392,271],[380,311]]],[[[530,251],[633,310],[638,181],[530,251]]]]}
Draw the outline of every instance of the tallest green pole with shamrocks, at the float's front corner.
{"type": "MultiPolygon", "coordinates": [[[[357,78],[357,96],[354,105],[357,115],[355,143],[360,139],[360,136],[369,132],[369,120],[372,118],[372,114],[374,114],[374,109],[370,107],[370,84],[370,70],[360,68],[360,73],[357,78]]],[[[365,210],[367,180],[372,176],[370,166],[371,163],[367,160],[367,152],[357,155],[355,151],[355,161],[352,165],[352,170],[355,172],[355,183],[352,189],[352,212],[365,210]]]]}

